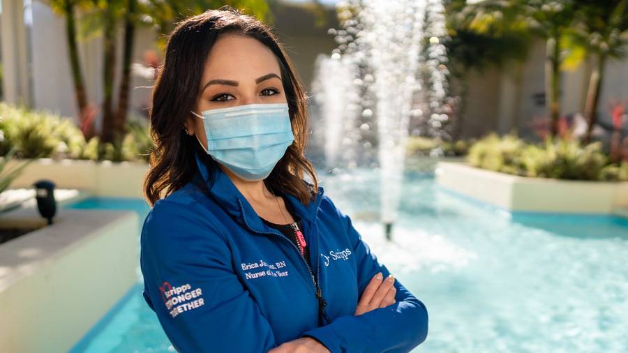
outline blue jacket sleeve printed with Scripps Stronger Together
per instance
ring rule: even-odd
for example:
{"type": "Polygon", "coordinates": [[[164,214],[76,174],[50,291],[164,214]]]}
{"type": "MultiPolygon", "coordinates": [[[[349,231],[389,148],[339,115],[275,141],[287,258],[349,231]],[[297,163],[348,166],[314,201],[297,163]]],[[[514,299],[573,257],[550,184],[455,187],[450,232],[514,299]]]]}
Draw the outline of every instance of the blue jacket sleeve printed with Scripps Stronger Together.
{"type": "Polygon", "coordinates": [[[156,202],[144,220],[144,299],[178,352],[267,352],[269,322],[234,273],[216,218],[156,202]]]}

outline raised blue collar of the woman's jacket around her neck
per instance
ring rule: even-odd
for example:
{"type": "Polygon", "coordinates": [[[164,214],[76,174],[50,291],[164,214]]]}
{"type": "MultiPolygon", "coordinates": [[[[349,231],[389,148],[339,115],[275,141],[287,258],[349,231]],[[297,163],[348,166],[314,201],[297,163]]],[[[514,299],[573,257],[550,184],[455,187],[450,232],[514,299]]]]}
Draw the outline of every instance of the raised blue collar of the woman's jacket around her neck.
{"type": "MultiPolygon", "coordinates": [[[[209,179],[209,171],[205,163],[202,162],[200,157],[201,151],[195,151],[195,160],[196,165],[198,167],[198,171],[200,175],[197,174],[196,177],[201,177],[202,182],[207,185],[209,188],[209,193],[214,197],[214,200],[220,204],[220,206],[231,216],[237,218],[242,223],[246,223],[246,225],[252,227],[254,230],[264,230],[264,223],[262,222],[260,216],[257,215],[253,206],[248,203],[244,195],[240,193],[240,190],[234,185],[233,181],[230,177],[220,168],[216,168],[214,170],[214,182],[212,183],[209,179]]],[[[204,152],[203,152],[204,153],[204,152]]],[[[304,183],[308,184],[308,186],[313,186],[312,183],[301,179],[304,183]]],[[[316,214],[318,212],[318,207],[320,202],[322,201],[323,196],[323,188],[322,186],[318,186],[318,193],[315,196],[315,199],[311,200],[311,202],[307,205],[304,205],[299,201],[297,197],[294,195],[290,195],[288,193],[284,194],[284,200],[286,202],[290,202],[292,209],[297,216],[301,218],[306,218],[308,221],[313,221],[316,218],[316,214]]]]}

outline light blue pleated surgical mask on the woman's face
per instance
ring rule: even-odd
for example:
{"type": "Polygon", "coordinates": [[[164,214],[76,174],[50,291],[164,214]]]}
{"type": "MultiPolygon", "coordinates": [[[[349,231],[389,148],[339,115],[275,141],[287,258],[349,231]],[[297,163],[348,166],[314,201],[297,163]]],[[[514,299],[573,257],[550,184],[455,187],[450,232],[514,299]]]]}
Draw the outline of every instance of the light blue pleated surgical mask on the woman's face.
{"type": "Polygon", "coordinates": [[[266,179],[294,141],[287,103],[210,109],[203,119],[209,156],[247,181],[266,179]]]}

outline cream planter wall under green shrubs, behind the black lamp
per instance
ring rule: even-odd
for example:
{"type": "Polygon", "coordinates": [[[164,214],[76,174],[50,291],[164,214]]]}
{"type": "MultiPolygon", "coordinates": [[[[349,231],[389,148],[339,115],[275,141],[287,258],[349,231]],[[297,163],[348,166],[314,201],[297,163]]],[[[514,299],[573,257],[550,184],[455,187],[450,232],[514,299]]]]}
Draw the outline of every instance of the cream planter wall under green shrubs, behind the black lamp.
{"type": "MultiPolygon", "coordinates": [[[[11,160],[8,167],[23,161],[11,160]]],[[[50,179],[57,188],[86,190],[94,196],[142,198],[142,182],[149,165],[93,160],[40,158],[29,164],[11,188],[31,188],[39,179],[50,179]]]]}

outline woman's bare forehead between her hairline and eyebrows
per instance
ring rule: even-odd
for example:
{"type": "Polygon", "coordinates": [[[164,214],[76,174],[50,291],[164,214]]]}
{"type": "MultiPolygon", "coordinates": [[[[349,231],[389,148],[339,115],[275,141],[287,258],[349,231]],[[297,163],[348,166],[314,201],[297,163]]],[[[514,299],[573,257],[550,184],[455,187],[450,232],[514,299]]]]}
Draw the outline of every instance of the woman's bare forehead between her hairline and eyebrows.
{"type": "Polygon", "coordinates": [[[218,36],[211,48],[203,78],[254,84],[255,78],[267,73],[276,73],[281,77],[279,63],[269,47],[250,36],[227,33],[218,36]]]}

